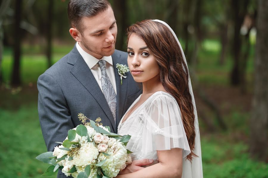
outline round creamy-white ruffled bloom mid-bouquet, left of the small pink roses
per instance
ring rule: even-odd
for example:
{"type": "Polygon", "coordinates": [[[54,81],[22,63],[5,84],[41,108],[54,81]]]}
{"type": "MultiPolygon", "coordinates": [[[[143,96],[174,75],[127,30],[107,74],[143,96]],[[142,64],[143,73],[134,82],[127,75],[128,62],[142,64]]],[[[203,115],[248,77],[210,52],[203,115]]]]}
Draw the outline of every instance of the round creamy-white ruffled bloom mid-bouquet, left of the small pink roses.
{"type": "Polygon", "coordinates": [[[98,155],[99,151],[92,142],[81,144],[78,155],[73,157],[74,165],[87,166],[91,164],[93,160],[97,159],[98,155]]]}

